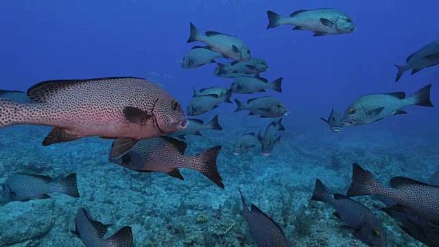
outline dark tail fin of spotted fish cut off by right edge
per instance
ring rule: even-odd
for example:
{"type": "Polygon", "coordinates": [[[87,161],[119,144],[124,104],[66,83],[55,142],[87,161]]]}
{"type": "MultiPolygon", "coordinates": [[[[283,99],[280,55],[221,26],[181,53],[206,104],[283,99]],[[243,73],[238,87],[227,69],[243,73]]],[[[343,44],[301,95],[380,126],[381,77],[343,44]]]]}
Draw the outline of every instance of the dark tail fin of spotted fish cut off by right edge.
{"type": "Polygon", "coordinates": [[[352,183],[346,196],[377,195],[382,188],[383,185],[375,180],[369,171],[353,164],[352,183]]]}

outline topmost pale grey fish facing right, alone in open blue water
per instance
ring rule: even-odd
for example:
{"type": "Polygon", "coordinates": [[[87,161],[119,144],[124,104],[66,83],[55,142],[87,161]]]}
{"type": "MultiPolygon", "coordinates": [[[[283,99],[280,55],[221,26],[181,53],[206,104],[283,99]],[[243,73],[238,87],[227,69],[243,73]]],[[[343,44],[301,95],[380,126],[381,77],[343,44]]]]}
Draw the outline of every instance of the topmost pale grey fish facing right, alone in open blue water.
{"type": "Polygon", "coordinates": [[[280,25],[296,25],[293,30],[309,30],[314,32],[313,36],[351,34],[357,29],[350,16],[333,8],[298,10],[289,17],[268,10],[267,16],[267,29],[280,25]]]}

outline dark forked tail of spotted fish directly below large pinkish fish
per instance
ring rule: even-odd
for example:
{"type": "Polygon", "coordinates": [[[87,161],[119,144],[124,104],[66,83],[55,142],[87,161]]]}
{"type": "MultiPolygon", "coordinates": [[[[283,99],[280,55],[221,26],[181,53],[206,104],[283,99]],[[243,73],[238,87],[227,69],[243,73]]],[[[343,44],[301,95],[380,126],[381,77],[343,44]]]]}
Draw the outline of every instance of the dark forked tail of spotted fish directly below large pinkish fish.
{"type": "Polygon", "coordinates": [[[217,145],[213,148],[209,148],[209,150],[206,150],[201,154],[197,154],[193,157],[191,167],[193,169],[197,169],[198,172],[200,172],[201,174],[212,180],[213,183],[224,189],[221,175],[219,175],[219,172],[217,170],[217,156],[221,148],[222,146],[217,145]]]}

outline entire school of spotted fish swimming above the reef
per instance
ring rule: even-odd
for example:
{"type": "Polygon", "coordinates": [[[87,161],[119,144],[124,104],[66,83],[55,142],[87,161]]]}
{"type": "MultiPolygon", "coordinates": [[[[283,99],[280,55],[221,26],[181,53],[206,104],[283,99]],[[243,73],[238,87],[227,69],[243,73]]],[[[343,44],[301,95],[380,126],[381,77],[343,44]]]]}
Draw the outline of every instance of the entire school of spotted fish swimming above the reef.
{"type": "MultiPolygon", "coordinates": [[[[310,31],[313,36],[353,34],[357,32],[348,14],[331,8],[298,10],[289,16],[267,12],[268,27],[294,25],[295,31],[310,31]]],[[[182,69],[195,69],[215,64],[214,75],[234,78],[230,88],[211,86],[199,91],[193,89],[193,99],[186,113],[178,99],[150,80],[134,77],[96,78],[86,80],[56,80],[40,82],[26,93],[0,91],[0,128],[19,124],[51,126],[43,145],[74,141],[84,137],[113,139],[108,147],[108,161],[136,172],[163,172],[184,180],[181,168],[195,169],[224,189],[222,176],[217,170],[217,156],[221,145],[207,148],[200,154],[185,154],[185,136],[202,135],[204,130],[222,130],[218,116],[204,124],[200,119],[187,116],[202,115],[230,103],[234,94],[264,93],[270,89],[283,93],[283,78],[267,80],[261,73],[270,67],[265,60],[252,57],[244,40],[230,34],[207,31],[202,34],[190,23],[187,43],[198,42],[182,59],[182,69]],[[204,46],[201,46],[204,43],[204,46]],[[217,59],[233,60],[217,62],[217,59]]],[[[439,64],[439,40],[435,40],[407,57],[405,65],[396,65],[396,82],[405,71],[418,71],[439,64]]],[[[347,126],[372,124],[394,115],[404,115],[407,106],[433,107],[430,99],[431,84],[410,97],[404,92],[372,93],[359,96],[346,108],[331,111],[328,124],[331,132],[338,133],[347,126]]],[[[244,132],[236,141],[233,154],[246,155],[258,144],[261,155],[269,156],[281,141],[285,127],[283,117],[289,110],[276,97],[262,96],[241,102],[235,99],[237,111],[248,110],[248,115],[279,118],[259,134],[244,132]]],[[[221,164],[218,164],[221,165],[221,164]]],[[[366,164],[367,165],[367,164],[366,164]]],[[[63,193],[80,197],[76,174],[54,180],[38,174],[17,173],[2,185],[4,200],[28,201],[50,199],[49,193],[63,193]]],[[[246,207],[239,190],[243,210],[254,243],[259,246],[292,246],[282,228],[254,204],[246,207]]],[[[335,217],[344,222],[342,228],[368,246],[388,246],[388,233],[373,211],[351,197],[376,195],[392,200],[391,207],[382,211],[401,222],[403,230],[427,246],[439,246],[439,187],[410,178],[396,176],[390,187],[383,185],[360,165],[353,164],[352,183],[346,195],[329,194],[320,179],[311,200],[324,202],[335,209],[335,217]]],[[[79,205],[78,205],[79,206],[79,205]]],[[[73,217],[73,215],[72,215],[73,217]]],[[[79,207],[75,215],[75,231],[85,246],[134,246],[130,226],[104,239],[107,226],[92,220],[88,211],[79,207]]]]}

